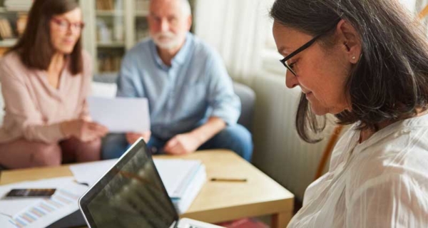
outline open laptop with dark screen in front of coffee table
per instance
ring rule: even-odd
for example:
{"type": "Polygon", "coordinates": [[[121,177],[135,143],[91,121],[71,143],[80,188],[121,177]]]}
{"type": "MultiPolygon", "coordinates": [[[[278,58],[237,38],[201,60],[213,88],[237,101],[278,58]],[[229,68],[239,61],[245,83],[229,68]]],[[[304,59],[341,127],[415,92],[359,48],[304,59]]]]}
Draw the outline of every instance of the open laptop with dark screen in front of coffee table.
{"type": "Polygon", "coordinates": [[[219,228],[179,219],[142,138],[78,200],[78,205],[91,228],[219,228]]]}

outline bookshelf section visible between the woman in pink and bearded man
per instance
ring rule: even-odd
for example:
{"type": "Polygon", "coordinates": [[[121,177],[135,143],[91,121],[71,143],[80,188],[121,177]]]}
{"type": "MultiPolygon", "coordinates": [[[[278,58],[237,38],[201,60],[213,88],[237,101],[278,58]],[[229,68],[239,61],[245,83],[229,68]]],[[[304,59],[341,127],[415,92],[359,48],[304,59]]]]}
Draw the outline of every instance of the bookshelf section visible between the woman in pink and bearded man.
{"type": "MultiPolygon", "coordinates": [[[[83,46],[96,59],[94,73],[116,73],[126,51],[148,37],[149,0],[84,2],[83,46]]],[[[190,5],[194,2],[190,0],[190,5]]]]}

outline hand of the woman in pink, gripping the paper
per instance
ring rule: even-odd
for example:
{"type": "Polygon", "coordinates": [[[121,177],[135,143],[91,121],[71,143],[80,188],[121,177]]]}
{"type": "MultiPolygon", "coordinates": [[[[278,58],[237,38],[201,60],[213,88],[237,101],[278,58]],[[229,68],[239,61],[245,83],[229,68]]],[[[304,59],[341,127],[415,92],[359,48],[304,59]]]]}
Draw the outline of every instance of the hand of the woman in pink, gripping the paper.
{"type": "Polygon", "coordinates": [[[64,121],[61,123],[61,130],[67,137],[72,136],[83,142],[96,140],[108,133],[108,129],[105,126],[88,120],[64,121]]]}

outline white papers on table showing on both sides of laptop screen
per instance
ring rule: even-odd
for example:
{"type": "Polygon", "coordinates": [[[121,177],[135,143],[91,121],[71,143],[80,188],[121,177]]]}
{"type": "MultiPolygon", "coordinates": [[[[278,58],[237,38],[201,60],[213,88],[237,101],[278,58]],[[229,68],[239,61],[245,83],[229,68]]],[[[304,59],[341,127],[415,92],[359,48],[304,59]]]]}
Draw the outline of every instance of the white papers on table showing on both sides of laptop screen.
{"type": "MultiPolygon", "coordinates": [[[[117,160],[71,165],[77,182],[93,185],[113,167],[117,160]]],[[[163,185],[179,214],[184,213],[206,180],[205,166],[198,160],[153,160],[163,185]]]]}

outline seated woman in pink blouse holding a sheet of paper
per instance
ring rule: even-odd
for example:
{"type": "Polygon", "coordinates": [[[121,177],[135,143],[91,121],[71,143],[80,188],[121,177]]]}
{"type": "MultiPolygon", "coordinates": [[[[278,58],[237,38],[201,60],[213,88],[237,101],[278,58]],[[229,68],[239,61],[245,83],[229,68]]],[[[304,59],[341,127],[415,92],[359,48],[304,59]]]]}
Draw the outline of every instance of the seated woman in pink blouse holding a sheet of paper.
{"type": "Polygon", "coordinates": [[[102,125],[86,96],[91,58],[82,51],[76,0],[36,0],[24,35],[0,62],[4,124],[0,165],[24,168],[99,160],[102,125]]]}

